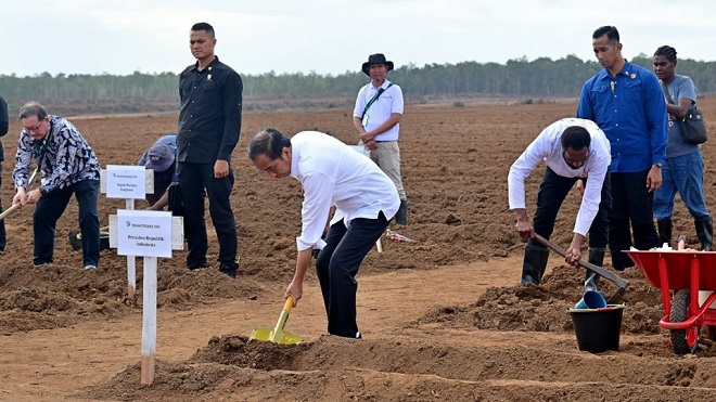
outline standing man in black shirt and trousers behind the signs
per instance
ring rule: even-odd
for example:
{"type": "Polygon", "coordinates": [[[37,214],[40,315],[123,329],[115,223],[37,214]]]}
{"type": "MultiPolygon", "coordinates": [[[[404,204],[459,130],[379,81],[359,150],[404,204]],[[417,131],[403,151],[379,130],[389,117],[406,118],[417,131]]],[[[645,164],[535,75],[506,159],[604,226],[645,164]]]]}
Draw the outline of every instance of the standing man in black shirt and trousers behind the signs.
{"type": "Polygon", "coordinates": [[[236,276],[236,226],[229,196],[233,187],[231,153],[241,132],[241,77],[214,54],[216,38],[207,23],[194,24],[189,46],[196,63],[179,76],[177,177],[184,209],[187,267],[207,268],[204,194],[219,241],[219,270],[236,276]]]}

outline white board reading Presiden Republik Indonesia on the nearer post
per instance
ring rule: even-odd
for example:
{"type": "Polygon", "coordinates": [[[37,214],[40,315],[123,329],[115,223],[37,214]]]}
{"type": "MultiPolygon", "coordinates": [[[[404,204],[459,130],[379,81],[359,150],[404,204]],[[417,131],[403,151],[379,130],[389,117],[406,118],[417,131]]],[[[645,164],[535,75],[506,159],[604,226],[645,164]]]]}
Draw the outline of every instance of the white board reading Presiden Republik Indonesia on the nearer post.
{"type": "Polygon", "coordinates": [[[171,212],[118,209],[117,254],[171,258],[171,212]]]}

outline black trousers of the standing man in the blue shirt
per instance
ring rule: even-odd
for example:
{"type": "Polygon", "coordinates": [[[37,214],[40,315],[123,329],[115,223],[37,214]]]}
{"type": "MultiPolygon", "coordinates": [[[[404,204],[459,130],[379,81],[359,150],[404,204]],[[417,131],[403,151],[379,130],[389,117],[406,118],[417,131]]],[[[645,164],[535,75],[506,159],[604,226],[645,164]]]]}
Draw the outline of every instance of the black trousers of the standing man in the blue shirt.
{"type": "Polygon", "coordinates": [[[613,200],[609,217],[609,248],[612,265],[617,271],[634,267],[634,261],[622,250],[628,250],[632,245],[640,250],[659,247],[659,233],[653,220],[654,193],[647,189],[648,174],[649,170],[611,173],[613,200]]]}

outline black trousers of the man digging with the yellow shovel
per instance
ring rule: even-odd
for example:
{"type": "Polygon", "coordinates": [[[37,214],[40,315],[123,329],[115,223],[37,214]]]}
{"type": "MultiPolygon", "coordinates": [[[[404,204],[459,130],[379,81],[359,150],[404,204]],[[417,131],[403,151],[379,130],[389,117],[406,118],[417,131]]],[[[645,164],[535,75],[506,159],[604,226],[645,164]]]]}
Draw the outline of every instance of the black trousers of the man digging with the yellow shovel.
{"type": "Polygon", "coordinates": [[[334,223],[325,235],[325,247],[316,259],[323,303],[331,335],[356,338],[356,274],[360,263],[381,237],[389,221],[381,211],[378,219],[354,219],[348,228],[334,223]]]}

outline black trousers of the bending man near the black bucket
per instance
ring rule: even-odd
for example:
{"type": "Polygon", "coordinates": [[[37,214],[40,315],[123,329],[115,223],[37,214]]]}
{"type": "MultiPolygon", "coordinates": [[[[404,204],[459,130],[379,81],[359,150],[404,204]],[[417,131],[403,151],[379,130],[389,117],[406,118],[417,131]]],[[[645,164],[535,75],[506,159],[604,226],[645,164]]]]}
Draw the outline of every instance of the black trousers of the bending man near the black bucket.
{"type": "MultiPolygon", "coordinates": [[[[564,198],[566,198],[577,180],[580,179],[559,176],[549,167],[545,169],[542,182],[539,184],[539,192],[537,193],[537,210],[535,211],[532,222],[535,233],[549,239],[554,231],[557,213],[560,211],[564,198]]],[[[589,180],[589,178],[585,181],[587,180],[589,180]]],[[[612,205],[612,190],[609,172],[604,177],[601,198],[597,216],[589,228],[589,247],[593,248],[606,248],[609,213],[612,205]]],[[[530,246],[546,248],[545,245],[534,238],[529,239],[528,244],[530,246]]]]}

